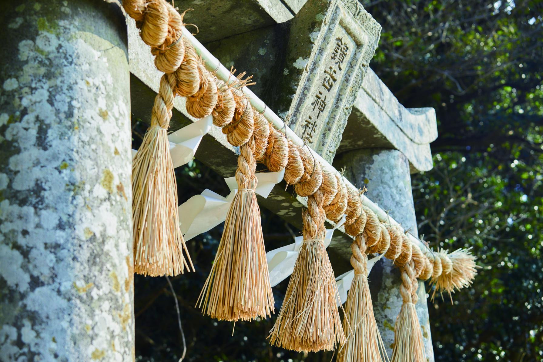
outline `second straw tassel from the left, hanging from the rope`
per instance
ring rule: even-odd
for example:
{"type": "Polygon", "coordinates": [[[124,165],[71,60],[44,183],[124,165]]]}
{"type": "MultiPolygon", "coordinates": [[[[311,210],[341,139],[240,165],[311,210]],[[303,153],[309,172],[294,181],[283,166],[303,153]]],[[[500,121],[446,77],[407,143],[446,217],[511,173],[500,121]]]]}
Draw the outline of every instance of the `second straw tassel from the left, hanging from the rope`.
{"type": "MultiPolygon", "coordinates": [[[[237,115],[235,122],[238,127],[250,129],[252,134],[253,111],[246,99],[245,112],[241,118],[237,115]]],[[[236,170],[238,191],[226,214],[219,249],[199,297],[202,312],[219,320],[266,318],[274,312],[260,209],[255,195],[254,152],[255,140],[250,137],[240,148],[236,170]]]]}

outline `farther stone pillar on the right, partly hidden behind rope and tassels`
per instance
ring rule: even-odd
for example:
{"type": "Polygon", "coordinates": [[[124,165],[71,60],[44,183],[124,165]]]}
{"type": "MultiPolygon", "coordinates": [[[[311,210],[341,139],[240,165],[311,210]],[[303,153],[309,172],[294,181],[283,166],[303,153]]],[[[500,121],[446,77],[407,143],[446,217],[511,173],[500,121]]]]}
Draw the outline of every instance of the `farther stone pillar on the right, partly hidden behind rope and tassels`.
{"type": "MultiPolygon", "coordinates": [[[[365,185],[371,200],[381,208],[390,211],[396,221],[418,236],[411,190],[409,161],[398,150],[361,149],[342,153],[334,158],[334,166],[345,166],[345,177],[361,187],[365,185]]],[[[381,331],[387,353],[392,356],[394,344],[394,323],[400,313],[400,272],[388,259],[382,259],[371,270],[369,276],[371,297],[374,303],[375,319],[381,331]]],[[[426,357],[433,362],[432,337],[428,321],[428,306],[424,282],[419,282],[417,315],[422,327],[426,357]]]]}

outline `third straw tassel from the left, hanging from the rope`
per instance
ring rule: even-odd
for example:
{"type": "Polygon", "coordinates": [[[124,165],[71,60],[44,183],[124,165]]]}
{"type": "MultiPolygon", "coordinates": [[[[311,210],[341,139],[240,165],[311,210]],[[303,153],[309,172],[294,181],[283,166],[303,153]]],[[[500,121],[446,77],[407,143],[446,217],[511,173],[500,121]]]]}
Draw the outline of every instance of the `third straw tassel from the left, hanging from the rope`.
{"type": "MultiPolygon", "coordinates": [[[[304,183],[311,187],[315,182],[321,183],[321,177],[320,167],[315,163],[315,172],[310,177],[312,181],[304,183]]],[[[304,193],[304,183],[296,185],[301,185],[298,194],[304,193]]],[[[288,350],[331,351],[336,344],[345,343],[337,309],[337,285],[324,247],[323,202],[323,189],[320,187],[307,198],[307,210],[303,213],[304,243],[281,311],[268,336],[272,345],[288,350]]]]}

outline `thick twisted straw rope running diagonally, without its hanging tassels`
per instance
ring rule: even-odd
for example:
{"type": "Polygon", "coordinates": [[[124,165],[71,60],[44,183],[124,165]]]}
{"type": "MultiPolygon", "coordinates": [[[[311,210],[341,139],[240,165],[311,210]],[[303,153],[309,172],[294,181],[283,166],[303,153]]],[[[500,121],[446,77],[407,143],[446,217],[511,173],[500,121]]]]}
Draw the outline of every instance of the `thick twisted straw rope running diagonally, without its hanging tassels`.
{"type": "MultiPolygon", "coordinates": [[[[263,162],[271,171],[286,168],[285,181],[294,185],[300,196],[317,193],[325,179],[328,188],[321,192],[322,195],[317,195],[317,198],[324,198],[321,208],[324,209],[325,217],[337,221],[346,214],[345,226],[349,226],[355,223],[359,215],[365,213],[367,219],[371,220],[364,235],[368,252],[384,252],[385,257],[395,260],[405,251],[403,248],[411,245],[411,242],[402,242],[399,227],[384,223],[377,226],[377,216],[369,208],[362,207],[357,190],[346,187],[340,177],[336,176],[336,182],[333,182],[309,151],[287,141],[285,135],[270,123],[264,123],[265,118],[252,109],[240,90],[250,77],[242,80],[245,73],[241,73],[235,82],[226,84],[205,69],[190,41],[181,37],[181,28],[184,26],[182,15],[172,5],[165,0],[124,0],[123,7],[127,14],[134,18],[136,26],[141,29],[142,40],[151,47],[151,53],[156,56],[157,69],[168,74],[168,87],[163,89],[161,81],[161,90],[157,96],[161,99],[159,103],[162,102],[165,106],[157,105],[157,111],[160,112],[157,119],[160,119],[161,125],[167,128],[169,124],[173,96],[178,94],[187,97],[187,112],[192,116],[201,118],[213,115],[213,123],[223,128],[230,143],[242,146],[252,139],[255,147],[251,149],[256,161],[263,162]],[[169,117],[165,117],[166,115],[169,117]]],[[[312,199],[314,200],[315,196],[312,199]]],[[[321,224],[320,221],[323,220],[323,212],[314,204],[308,207],[311,207],[312,211],[308,213],[310,217],[305,217],[304,220],[311,223],[312,232],[317,228],[318,221],[318,230],[322,231],[324,223],[321,224]]],[[[356,236],[356,229],[357,227],[354,227],[351,233],[348,233],[356,236]]],[[[426,267],[424,272],[421,271],[420,277],[437,280],[441,274],[450,275],[455,270],[465,272],[463,277],[469,282],[475,276],[471,264],[469,268],[455,269],[447,255],[428,257],[425,252],[422,258],[426,267]],[[432,266],[432,272],[428,265],[432,266]],[[446,268],[441,268],[442,265],[446,268]]],[[[466,260],[463,259],[465,263],[466,260]]],[[[474,264],[473,260],[471,262],[474,264]]]]}

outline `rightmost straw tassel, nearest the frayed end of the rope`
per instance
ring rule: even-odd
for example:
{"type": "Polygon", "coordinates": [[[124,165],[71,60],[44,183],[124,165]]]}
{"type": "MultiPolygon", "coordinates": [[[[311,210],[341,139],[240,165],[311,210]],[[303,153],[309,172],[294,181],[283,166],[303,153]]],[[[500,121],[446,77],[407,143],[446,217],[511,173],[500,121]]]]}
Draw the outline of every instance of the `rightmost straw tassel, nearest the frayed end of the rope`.
{"type": "Polygon", "coordinates": [[[414,262],[402,266],[402,285],[400,294],[403,304],[394,326],[394,348],[392,362],[424,362],[424,344],[420,330],[419,317],[416,315],[415,304],[419,298],[416,294],[414,262]]]}

